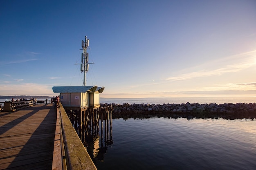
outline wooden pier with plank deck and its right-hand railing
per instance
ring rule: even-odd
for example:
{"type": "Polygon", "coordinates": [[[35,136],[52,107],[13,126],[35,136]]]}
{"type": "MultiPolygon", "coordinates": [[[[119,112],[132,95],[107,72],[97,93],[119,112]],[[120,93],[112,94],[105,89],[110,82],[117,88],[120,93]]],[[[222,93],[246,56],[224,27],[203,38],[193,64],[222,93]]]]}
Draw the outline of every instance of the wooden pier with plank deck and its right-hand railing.
{"type": "Polygon", "coordinates": [[[0,113],[0,170],[97,170],[62,104],[0,113]]]}

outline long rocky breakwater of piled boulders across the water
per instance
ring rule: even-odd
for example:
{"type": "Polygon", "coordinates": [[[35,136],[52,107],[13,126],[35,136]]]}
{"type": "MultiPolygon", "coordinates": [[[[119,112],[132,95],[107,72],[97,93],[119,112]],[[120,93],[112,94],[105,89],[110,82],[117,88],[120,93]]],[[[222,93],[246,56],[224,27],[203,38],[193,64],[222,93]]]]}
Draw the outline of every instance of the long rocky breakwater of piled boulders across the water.
{"type": "Polygon", "coordinates": [[[225,119],[256,118],[256,103],[225,104],[101,104],[101,107],[112,106],[115,117],[186,117],[225,119]]]}

